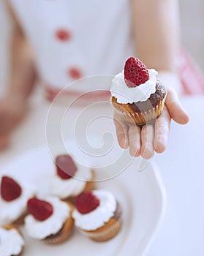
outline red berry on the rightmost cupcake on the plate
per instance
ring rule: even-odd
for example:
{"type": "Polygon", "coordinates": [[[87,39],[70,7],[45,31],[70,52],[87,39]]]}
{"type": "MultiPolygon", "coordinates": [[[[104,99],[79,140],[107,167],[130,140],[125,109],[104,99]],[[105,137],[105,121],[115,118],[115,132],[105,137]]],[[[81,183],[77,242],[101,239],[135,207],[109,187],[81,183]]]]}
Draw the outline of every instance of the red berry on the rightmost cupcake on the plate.
{"type": "Polygon", "coordinates": [[[81,214],[94,211],[99,204],[99,198],[91,191],[82,192],[75,200],[75,206],[81,214]]]}

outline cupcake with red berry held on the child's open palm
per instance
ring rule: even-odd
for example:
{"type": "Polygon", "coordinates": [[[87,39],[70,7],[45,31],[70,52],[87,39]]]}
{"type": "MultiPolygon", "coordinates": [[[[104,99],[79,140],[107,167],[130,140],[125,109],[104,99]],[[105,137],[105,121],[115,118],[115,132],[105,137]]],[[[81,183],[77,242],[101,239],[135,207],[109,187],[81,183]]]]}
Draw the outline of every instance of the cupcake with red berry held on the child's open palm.
{"type": "Polygon", "coordinates": [[[147,69],[142,61],[130,57],[124,71],[113,78],[111,102],[124,121],[143,126],[154,123],[162,113],[167,91],[156,75],[155,69],[147,69]]]}

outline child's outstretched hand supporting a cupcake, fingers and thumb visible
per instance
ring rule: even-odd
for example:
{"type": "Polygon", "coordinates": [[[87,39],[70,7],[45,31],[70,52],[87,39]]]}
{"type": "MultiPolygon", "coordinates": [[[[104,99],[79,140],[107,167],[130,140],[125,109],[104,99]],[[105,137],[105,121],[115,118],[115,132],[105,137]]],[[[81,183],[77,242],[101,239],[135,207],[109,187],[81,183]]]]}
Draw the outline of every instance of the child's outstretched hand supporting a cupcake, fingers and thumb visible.
{"type": "Polygon", "coordinates": [[[165,151],[171,118],[178,124],[187,124],[189,121],[189,117],[173,89],[167,90],[165,108],[154,125],[148,124],[140,128],[136,125],[126,124],[115,112],[114,123],[118,143],[121,148],[129,147],[129,153],[132,156],[139,157],[141,155],[145,159],[150,159],[154,156],[154,151],[156,153],[165,151]]]}

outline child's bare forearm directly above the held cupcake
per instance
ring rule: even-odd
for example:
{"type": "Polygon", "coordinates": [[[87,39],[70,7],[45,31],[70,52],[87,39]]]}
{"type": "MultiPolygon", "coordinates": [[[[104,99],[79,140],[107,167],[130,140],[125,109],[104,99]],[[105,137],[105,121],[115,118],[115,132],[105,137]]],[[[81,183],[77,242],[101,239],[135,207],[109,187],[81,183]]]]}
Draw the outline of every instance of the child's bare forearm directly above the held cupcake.
{"type": "Polygon", "coordinates": [[[147,67],[175,72],[179,49],[177,0],[132,0],[137,56],[147,67]]]}

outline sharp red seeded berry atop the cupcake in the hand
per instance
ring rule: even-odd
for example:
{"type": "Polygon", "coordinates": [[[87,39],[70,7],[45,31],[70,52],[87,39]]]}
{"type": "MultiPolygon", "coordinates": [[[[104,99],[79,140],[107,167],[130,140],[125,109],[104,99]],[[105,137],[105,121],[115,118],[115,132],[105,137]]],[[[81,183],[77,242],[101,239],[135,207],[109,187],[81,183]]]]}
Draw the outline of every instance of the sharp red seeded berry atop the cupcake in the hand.
{"type": "Polygon", "coordinates": [[[140,86],[149,79],[148,69],[139,59],[130,57],[125,63],[124,79],[128,87],[140,86]]]}

